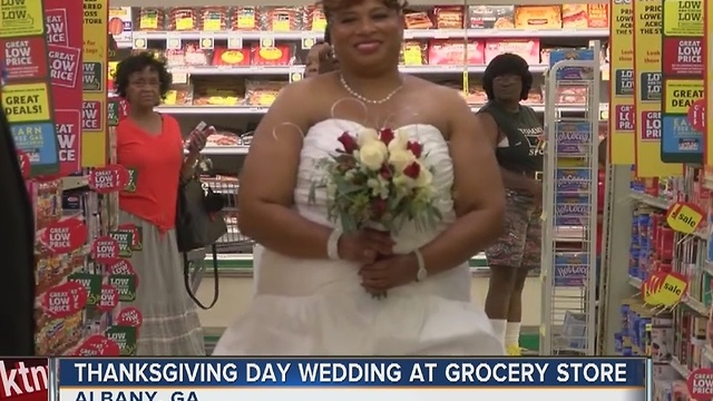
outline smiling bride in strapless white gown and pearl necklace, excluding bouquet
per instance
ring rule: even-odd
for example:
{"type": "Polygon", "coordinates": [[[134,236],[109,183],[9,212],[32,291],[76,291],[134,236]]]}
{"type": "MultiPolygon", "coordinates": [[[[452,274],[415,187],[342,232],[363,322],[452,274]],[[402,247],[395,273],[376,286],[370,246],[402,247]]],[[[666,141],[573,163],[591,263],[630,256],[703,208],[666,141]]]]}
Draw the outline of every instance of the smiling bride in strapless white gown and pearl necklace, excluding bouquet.
{"type": "Polygon", "coordinates": [[[399,74],[401,1],[323,1],[341,70],[284,88],[257,127],[238,204],[241,232],[265,247],[260,281],[215,355],[505,354],[468,267],[504,226],[494,149],[457,91],[399,74]],[[423,145],[443,219],[340,234],[326,195],[307,200],[315,162],[342,133],[387,126],[423,145]]]}

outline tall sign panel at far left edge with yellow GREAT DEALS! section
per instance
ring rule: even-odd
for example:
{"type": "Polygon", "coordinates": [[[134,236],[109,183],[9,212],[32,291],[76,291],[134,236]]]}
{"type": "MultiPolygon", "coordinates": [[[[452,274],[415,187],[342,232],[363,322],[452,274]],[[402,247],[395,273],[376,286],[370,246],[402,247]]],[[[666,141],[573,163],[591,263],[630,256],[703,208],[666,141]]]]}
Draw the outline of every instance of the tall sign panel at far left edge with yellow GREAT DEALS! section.
{"type": "Polygon", "coordinates": [[[30,162],[29,176],[59,173],[42,1],[3,3],[0,51],[4,85],[0,100],[17,147],[30,162]]]}

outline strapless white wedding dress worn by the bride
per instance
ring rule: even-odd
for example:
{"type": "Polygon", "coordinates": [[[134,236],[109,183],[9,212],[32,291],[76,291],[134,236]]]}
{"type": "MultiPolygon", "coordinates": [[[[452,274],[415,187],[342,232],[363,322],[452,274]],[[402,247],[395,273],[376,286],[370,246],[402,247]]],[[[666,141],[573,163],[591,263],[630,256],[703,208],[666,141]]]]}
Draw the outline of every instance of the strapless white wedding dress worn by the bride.
{"type": "MultiPolygon", "coordinates": [[[[331,226],[324,194],[307,200],[316,160],[329,156],[345,130],[359,124],[328,119],[304,138],[296,211],[331,226]]],[[[423,144],[433,166],[437,205],[445,218],[432,231],[403,227],[394,252],[408,253],[432,241],[456,219],[451,186],[453,166],[441,133],[433,126],[402,127],[423,144]]],[[[279,227],[277,227],[279,228],[279,227]]],[[[326,246],[326,245],[325,245],[326,246]]],[[[248,311],[221,338],[214,355],[504,355],[484,310],[471,303],[470,271],[462,264],[448,272],[389,292],[374,300],[360,286],[359,265],[326,260],[297,260],[262,250],[256,266],[256,294],[248,311]]]]}

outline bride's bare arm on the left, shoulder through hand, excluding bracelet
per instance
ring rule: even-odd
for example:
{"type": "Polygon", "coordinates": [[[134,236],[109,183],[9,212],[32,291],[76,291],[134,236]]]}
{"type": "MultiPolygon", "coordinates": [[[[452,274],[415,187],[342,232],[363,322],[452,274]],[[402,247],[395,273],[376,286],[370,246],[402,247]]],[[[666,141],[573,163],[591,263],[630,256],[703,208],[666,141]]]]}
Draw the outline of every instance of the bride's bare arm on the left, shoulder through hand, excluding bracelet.
{"type": "MultiPolygon", "coordinates": [[[[285,87],[263,117],[245,158],[240,178],[238,228],[258,244],[297,258],[328,258],[333,228],[300,216],[293,193],[303,135],[314,107],[309,99],[319,88],[312,80],[285,87]]],[[[370,263],[377,250],[389,253],[388,237],[378,233],[343,234],[338,241],[341,258],[370,263]],[[385,239],[384,239],[385,238],[385,239]]]]}

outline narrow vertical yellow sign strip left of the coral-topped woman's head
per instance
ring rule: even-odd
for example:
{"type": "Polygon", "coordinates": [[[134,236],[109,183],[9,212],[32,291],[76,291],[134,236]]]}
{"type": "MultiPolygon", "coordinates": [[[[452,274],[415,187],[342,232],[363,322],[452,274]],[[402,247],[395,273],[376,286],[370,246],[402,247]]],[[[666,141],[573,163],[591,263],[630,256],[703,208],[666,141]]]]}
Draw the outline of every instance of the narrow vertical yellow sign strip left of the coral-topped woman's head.
{"type": "Polygon", "coordinates": [[[108,0],[84,0],[81,166],[107,163],[108,0]]]}

